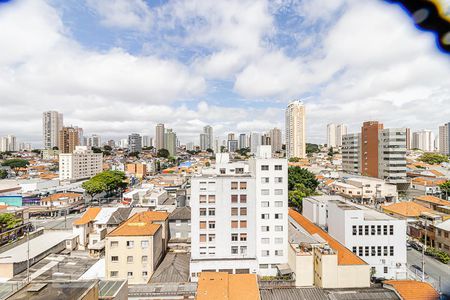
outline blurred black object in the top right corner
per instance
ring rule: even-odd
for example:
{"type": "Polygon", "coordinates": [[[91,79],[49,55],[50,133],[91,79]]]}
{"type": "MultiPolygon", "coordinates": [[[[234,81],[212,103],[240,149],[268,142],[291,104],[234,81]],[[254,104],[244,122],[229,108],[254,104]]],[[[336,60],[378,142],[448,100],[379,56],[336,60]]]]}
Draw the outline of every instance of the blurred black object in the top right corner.
{"type": "Polygon", "coordinates": [[[386,0],[400,4],[411,15],[417,27],[436,34],[439,48],[450,53],[450,16],[446,16],[442,4],[430,0],[386,0]]]}

